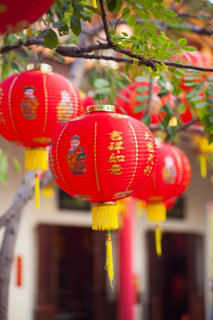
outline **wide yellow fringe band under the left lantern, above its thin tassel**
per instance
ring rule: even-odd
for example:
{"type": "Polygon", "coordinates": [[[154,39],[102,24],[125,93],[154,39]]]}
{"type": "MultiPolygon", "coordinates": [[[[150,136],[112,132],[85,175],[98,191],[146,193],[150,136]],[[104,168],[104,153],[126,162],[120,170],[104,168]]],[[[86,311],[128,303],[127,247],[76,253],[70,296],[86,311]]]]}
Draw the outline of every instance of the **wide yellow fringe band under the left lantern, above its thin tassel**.
{"type": "Polygon", "coordinates": [[[48,156],[45,148],[29,148],[25,151],[26,170],[48,170],[48,156]]]}

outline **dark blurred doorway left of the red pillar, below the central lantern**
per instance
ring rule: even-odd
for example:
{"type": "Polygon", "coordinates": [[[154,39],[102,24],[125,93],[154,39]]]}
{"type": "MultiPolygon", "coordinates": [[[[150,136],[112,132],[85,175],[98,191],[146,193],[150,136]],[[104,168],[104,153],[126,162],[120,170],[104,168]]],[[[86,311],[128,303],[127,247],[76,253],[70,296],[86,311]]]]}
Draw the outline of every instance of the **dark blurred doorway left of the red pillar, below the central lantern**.
{"type": "Polygon", "coordinates": [[[108,296],[106,234],[87,227],[38,226],[36,320],[116,319],[108,296]]]}

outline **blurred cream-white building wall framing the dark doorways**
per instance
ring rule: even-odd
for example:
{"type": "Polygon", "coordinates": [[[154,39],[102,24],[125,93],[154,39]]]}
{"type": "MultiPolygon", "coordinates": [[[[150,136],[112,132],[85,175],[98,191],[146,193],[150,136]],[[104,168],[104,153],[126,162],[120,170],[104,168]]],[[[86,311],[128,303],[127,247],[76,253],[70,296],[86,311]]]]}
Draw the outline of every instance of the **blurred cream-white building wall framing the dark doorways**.
{"type": "MultiPolygon", "coordinates": [[[[0,138],[0,147],[6,148],[11,154],[18,156],[23,163],[24,150],[13,147],[0,138]]],[[[210,185],[209,178],[200,177],[199,163],[196,161],[193,152],[187,153],[190,158],[193,176],[185,192],[186,212],[185,219],[168,219],[163,223],[165,231],[193,232],[205,235],[205,204],[213,198],[213,187],[210,185]]],[[[23,168],[20,175],[17,175],[10,166],[10,182],[8,186],[0,184],[0,203],[1,213],[4,213],[11,204],[15,192],[22,178],[23,168]]],[[[15,263],[13,263],[10,283],[9,296],[9,320],[33,320],[33,310],[36,302],[36,276],[37,276],[37,237],[36,227],[38,223],[66,224],[78,226],[91,226],[91,215],[84,212],[67,212],[57,209],[57,198],[50,203],[49,212],[45,209],[44,199],[41,196],[40,209],[34,209],[34,199],[31,200],[23,213],[20,230],[15,246],[14,258],[20,255],[23,258],[23,285],[15,285],[15,263]]],[[[154,226],[147,221],[146,216],[135,217],[135,232],[133,241],[133,271],[140,279],[139,290],[146,299],[146,246],[145,233],[154,226]]],[[[2,232],[0,233],[0,238],[2,232]]],[[[15,261],[15,260],[14,260],[15,261]]],[[[143,319],[143,305],[135,308],[135,320],[143,319]]]]}

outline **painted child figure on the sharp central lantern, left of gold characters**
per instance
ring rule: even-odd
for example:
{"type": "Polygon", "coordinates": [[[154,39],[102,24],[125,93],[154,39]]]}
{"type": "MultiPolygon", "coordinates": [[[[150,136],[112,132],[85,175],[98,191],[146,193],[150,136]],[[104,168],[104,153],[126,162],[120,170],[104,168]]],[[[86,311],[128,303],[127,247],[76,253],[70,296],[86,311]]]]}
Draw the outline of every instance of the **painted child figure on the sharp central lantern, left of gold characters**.
{"type": "Polygon", "coordinates": [[[81,138],[74,135],[70,139],[70,148],[67,150],[66,161],[73,174],[82,174],[86,171],[86,155],[80,146],[81,138]]]}

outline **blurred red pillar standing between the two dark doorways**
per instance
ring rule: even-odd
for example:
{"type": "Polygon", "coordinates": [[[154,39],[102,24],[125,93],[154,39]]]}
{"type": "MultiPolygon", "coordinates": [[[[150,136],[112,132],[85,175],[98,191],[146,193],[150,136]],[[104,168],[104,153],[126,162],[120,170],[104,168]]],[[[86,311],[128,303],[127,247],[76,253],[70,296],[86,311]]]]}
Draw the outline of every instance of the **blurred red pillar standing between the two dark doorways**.
{"type": "Polygon", "coordinates": [[[134,222],[134,200],[127,199],[119,230],[120,249],[120,294],[119,320],[134,320],[133,306],[135,303],[135,288],[132,273],[132,241],[134,222]]]}

